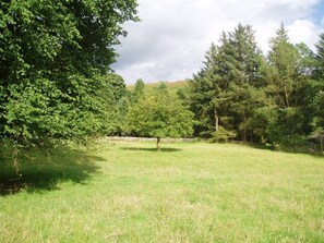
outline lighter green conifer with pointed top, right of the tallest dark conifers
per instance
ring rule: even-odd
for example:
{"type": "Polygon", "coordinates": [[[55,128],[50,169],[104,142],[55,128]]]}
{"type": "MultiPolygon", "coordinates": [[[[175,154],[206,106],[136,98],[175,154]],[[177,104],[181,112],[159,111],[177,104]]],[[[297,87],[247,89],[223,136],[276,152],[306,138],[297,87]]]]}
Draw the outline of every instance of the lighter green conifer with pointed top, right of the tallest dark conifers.
{"type": "Polygon", "coordinates": [[[304,45],[290,44],[283,24],[269,44],[271,51],[264,68],[266,93],[273,100],[275,116],[269,139],[293,143],[298,135],[304,134],[301,94],[312,69],[308,64],[310,50],[304,45]]]}

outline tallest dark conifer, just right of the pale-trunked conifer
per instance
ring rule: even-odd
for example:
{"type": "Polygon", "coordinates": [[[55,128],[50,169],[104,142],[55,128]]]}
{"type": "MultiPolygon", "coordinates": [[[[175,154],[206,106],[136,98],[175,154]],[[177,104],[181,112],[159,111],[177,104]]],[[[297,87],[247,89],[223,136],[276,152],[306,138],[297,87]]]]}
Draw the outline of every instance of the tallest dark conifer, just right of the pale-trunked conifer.
{"type": "Polygon", "coordinates": [[[256,45],[252,26],[239,24],[229,33],[228,70],[230,85],[228,88],[229,110],[232,126],[243,142],[253,142],[253,113],[264,105],[260,100],[260,89],[264,86],[260,66],[262,52],[256,45]]]}

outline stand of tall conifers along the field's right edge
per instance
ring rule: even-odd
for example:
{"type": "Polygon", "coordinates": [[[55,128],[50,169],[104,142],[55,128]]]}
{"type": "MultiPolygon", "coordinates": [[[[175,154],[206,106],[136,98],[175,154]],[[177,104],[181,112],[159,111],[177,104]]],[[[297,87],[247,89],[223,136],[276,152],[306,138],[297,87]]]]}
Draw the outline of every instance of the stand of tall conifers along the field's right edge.
{"type": "Polygon", "coordinates": [[[324,127],[324,34],[315,47],[292,45],[281,25],[264,56],[250,25],[224,32],[190,80],[194,134],[310,149],[324,127]]]}

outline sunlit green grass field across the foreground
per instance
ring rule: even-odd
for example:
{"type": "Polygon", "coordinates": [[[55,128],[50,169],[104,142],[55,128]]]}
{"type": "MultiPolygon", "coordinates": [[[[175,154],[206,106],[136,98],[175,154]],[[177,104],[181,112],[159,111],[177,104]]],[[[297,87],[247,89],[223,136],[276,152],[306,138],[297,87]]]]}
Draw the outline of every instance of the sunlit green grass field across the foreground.
{"type": "Polygon", "coordinates": [[[56,151],[19,181],[2,165],[0,242],[324,242],[323,157],[161,146],[56,151]]]}

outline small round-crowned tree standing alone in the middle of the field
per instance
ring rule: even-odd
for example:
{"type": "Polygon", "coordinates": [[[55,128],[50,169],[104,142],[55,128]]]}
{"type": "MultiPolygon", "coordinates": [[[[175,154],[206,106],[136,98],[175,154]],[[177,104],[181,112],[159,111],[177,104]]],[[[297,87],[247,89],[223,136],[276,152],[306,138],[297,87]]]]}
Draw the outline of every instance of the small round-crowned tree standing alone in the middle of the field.
{"type": "Polygon", "coordinates": [[[167,92],[142,97],[128,114],[128,130],[139,136],[156,137],[156,148],[160,150],[161,137],[191,135],[193,114],[167,92]]]}

